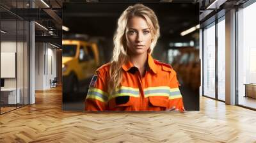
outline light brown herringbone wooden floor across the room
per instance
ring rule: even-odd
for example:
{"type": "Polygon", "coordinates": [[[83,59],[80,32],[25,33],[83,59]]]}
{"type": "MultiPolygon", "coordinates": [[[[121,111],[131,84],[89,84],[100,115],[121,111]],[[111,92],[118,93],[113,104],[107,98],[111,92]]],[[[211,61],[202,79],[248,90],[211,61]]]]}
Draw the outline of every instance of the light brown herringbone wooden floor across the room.
{"type": "Polygon", "coordinates": [[[0,116],[0,142],[256,142],[256,112],[200,98],[200,112],[61,110],[61,89],[0,116]]]}

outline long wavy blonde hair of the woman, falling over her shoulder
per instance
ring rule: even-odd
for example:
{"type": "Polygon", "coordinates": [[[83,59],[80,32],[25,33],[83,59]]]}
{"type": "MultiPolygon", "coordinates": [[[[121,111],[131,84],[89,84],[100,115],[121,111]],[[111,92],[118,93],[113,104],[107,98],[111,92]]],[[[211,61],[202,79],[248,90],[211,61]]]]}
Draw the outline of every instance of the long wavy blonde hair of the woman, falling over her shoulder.
{"type": "Polygon", "coordinates": [[[143,4],[134,4],[134,6],[129,6],[122,13],[118,19],[117,29],[113,38],[114,49],[109,69],[108,82],[109,94],[113,94],[113,92],[115,92],[116,89],[120,86],[122,81],[122,65],[127,62],[127,60],[129,60],[129,56],[127,55],[125,31],[128,20],[134,16],[142,17],[145,19],[150,29],[150,33],[152,33],[152,42],[150,48],[148,49],[149,54],[152,53],[160,35],[156,14],[147,6],[144,6],[143,4]]]}

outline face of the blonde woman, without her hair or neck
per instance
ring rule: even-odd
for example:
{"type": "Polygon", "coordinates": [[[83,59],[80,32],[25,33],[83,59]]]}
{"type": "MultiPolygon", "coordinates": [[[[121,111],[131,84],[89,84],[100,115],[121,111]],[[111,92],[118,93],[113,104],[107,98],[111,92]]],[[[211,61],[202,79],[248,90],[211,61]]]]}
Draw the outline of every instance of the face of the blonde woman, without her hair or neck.
{"type": "Polygon", "coordinates": [[[152,34],[146,20],[136,16],[128,20],[125,37],[129,52],[134,55],[147,53],[152,41],[152,34]]]}

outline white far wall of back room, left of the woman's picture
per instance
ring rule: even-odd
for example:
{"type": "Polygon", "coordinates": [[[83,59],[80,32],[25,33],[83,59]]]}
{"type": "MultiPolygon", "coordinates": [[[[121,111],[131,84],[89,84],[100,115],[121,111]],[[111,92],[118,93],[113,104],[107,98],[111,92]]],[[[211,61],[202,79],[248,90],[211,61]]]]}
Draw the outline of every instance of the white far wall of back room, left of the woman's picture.
{"type": "Polygon", "coordinates": [[[35,89],[51,88],[50,79],[56,77],[56,49],[49,43],[36,43],[35,68],[35,89]]]}

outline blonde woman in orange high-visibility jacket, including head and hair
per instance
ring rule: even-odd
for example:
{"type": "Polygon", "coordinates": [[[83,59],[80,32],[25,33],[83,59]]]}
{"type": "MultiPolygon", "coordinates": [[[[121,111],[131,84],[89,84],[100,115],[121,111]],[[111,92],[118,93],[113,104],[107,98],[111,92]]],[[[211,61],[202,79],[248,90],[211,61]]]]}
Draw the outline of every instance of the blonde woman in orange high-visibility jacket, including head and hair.
{"type": "Polygon", "coordinates": [[[111,62],[90,83],[85,110],[184,112],[175,71],[151,56],[158,38],[154,11],[129,6],[118,19],[111,62]]]}

